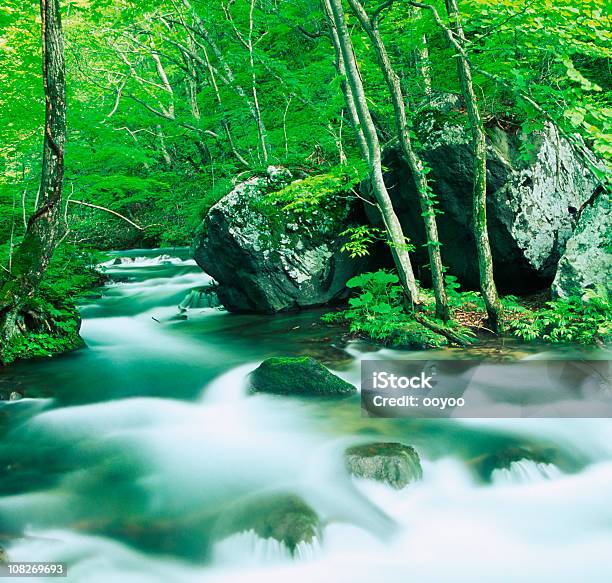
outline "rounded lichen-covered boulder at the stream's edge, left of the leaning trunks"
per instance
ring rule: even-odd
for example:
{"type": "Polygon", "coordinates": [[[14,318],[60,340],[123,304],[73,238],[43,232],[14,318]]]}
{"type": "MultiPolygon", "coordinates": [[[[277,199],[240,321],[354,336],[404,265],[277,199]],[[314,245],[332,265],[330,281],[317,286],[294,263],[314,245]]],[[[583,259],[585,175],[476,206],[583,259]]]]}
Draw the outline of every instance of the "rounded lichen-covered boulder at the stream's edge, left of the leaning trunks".
{"type": "Polygon", "coordinates": [[[270,216],[265,192],[287,185],[287,171],[270,168],[243,182],[211,208],[193,242],[198,265],[218,283],[234,312],[274,313],[326,304],[346,294],[358,262],[340,251],[351,209],[330,221],[270,216]]]}

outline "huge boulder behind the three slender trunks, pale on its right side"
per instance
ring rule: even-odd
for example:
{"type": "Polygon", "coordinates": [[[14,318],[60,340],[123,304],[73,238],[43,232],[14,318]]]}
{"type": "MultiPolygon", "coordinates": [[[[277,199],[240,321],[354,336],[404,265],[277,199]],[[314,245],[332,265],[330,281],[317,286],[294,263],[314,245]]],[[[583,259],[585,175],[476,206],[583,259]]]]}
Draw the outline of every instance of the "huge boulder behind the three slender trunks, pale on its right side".
{"type": "MultiPolygon", "coordinates": [[[[477,287],[470,228],[473,156],[465,114],[449,97],[433,103],[432,111],[416,129],[444,213],[438,217],[442,258],[463,283],[477,287]]],[[[498,126],[487,132],[487,210],[496,281],[506,292],[544,287],[552,282],[580,210],[598,182],[552,124],[530,135],[498,126]]],[[[410,170],[397,150],[390,150],[385,162],[396,210],[406,235],[417,244],[419,276],[427,280],[424,229],[410,170]]]]}

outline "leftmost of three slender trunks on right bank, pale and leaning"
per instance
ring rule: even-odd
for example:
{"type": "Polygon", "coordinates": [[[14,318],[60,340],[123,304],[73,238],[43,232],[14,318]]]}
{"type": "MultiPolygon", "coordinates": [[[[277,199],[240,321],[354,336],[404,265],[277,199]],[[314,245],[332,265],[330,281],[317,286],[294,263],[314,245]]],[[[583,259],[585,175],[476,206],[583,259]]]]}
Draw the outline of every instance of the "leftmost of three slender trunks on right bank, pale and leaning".
{"type": "MultiPolygon", "coordinates": [[[[380,143],[367,104],[361,75],[357,67],[353,43],[345,21],[342,0],[322,1],[323,8],[328,15],[332,40],[334,43],[338,43],[336,52],[342,56],[342,64],[347,79],[347,83],[343,87],[347,107],[351,117],[357,117],[355,121],[358,123],[357,127],[359,128],[359,144],[362,149],[362,155],[370,167],[370,183],[389,237],[398,275],[408,299],[416,306],[421,300],[420,293],[412,270],[406,238],[404,237],[397,214],[393,209],[391,197],[383,178],[380,143]]],[[[342,74],[342,70],[339,72],[342,74]]]]}

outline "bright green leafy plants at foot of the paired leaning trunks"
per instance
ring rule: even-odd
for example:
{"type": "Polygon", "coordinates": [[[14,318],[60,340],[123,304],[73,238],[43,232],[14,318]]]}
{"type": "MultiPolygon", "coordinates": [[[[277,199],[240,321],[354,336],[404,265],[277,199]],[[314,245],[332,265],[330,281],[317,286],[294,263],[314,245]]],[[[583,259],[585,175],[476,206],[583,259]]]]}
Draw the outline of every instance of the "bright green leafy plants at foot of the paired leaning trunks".
{"type": "Polygon", "coordinates": [[[326,322],[346,322],[349,330],[390,346],[417,348],[446,344],[446,338],[419,324],[403,307],[403,290],[395,274],[364,273],[347,286],[357,291],[343,312],[326,314],[326,322]]]}

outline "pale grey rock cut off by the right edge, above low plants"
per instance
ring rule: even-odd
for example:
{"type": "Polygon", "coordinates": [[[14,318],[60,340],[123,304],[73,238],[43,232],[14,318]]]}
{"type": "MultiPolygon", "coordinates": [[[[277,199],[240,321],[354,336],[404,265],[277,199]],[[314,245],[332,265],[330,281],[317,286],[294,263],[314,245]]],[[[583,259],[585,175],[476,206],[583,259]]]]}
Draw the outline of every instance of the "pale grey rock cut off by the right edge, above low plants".
{"type": "Polygon", "coordinates": [[[553,282],[562,298],[583,296],[586,290],[607,289],[612,281],[612,213],[607,196],[597,197],[580,215],[565,246],[553,282]]]}

